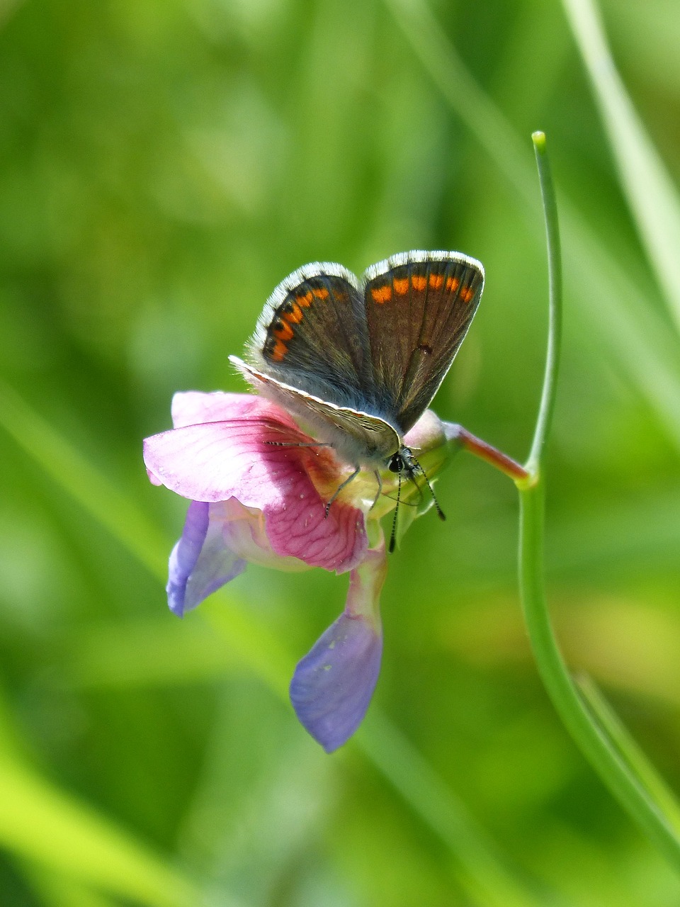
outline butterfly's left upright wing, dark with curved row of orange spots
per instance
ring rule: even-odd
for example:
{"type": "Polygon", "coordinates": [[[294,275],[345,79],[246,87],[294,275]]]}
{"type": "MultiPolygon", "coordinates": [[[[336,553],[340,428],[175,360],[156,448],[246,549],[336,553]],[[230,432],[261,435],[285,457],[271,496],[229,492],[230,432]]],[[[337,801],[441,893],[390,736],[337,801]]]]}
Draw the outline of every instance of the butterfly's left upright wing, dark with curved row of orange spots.
{"type": "Polygon", "coordinates": [[[355,275],[331,262],[294,271],[267,299],[248,360],[306,394],[363,409],[373,372],[364,292],[355,275]]]}

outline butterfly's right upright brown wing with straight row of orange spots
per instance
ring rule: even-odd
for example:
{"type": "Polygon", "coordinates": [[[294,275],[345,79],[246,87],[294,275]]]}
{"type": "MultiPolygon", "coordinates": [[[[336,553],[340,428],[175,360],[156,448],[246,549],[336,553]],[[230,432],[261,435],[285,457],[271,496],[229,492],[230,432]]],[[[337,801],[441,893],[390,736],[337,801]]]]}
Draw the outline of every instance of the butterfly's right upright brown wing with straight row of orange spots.
{"type": "Polygon", "coordinates": [[[442,384],[483,286],[481,263],[460,252],[403,252],[366,271],[365,319],[378,411],[402,434],[442,384]]]}

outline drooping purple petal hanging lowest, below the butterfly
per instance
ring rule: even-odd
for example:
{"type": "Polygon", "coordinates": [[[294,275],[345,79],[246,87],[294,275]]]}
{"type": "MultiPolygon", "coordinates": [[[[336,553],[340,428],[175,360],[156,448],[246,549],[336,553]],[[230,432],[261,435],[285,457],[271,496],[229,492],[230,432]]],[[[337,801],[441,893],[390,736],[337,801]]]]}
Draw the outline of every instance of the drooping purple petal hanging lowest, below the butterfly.
{"type": "Polygon", "coordinates": [[[380,673],[383,633],[374,618],[340,615],[296,667],[290,700],[326,753],[362,722],[380,673]]]}

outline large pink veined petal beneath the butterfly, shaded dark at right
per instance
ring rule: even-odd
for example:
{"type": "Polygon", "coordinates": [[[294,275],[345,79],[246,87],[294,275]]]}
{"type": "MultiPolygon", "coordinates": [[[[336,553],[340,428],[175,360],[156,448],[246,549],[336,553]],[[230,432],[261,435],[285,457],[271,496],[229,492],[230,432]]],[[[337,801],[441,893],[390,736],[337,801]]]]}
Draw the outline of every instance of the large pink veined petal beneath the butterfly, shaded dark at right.
{"type": "MultiPolygon", "coordinates": [[[[254,412],[263,404],[271,411],[266,401],[247,399],[255,401],[254,412]]],[[[333,489],[343,473],[326,448],[295,446],[310,440],[278,417],[248,415],[155,434],[144,442],[144,462],[156,480],[192,501],[234,497],[261,510],[277,554],[351,570],[367,547],[364,514],[338,500],[325,518],[316,484],[333,489]]]]}

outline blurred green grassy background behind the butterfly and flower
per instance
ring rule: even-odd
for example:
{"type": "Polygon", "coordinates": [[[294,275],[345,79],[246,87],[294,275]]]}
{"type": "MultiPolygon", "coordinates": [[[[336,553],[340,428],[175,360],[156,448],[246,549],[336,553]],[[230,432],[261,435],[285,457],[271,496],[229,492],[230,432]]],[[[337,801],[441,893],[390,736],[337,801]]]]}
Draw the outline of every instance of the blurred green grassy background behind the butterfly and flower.
{"type": "MultiPolygon", "coordinates": [[[[487,274],[435,408],[522,459],[544,130],[567,277],[549,598],[680,785],[680,343],[561,5],[439,0],[441,33],[378,0],[0,9],[3,907],[680,903],[539,683],[507,479],[464,453],[442,476],[448,521],[390,560],[366,727],[325,756],[285,688],[346,576],[250,567],[172,617],[186,504],[141,463],[175,390],[242,389],[227,356],[288,272],[417,248],[487,274]]],[[[602,12],[677,176],[680,7],[602,12]]]]}

